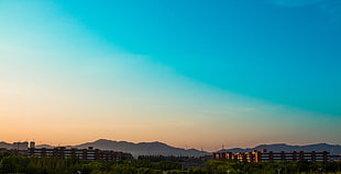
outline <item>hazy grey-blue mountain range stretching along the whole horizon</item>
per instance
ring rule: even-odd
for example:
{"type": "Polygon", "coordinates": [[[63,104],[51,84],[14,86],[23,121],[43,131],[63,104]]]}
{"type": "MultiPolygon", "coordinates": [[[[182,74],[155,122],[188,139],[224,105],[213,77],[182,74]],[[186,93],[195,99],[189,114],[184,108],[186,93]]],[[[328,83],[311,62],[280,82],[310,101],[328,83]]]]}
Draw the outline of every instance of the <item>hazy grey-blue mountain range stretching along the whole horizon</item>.
{"type": "MultiPolygon", "coordinates": [[[[37,148],[52,148],[48,144],[40,144],[37,148]]],[[[86,142],[78,146],[67,146],[67,148],[79,148],[85,149],[88,147],[94,147],[95,149],[102,150],[113,150],[113,151],[123,151],[130,152],[134,156],[138,155],[148,155],[148,154],[161,154],[161,155],[189,155],[189,156],[200,156],[211,154],[211,152],[199,151],[196,149],[182,149],[170,147],[163,142],[128,142],[128,141],[113,141],[107,139],[99,139],[94,142],[86,142]]],[[[0,148],[11,149],[12,144],[1,141],[0,148]]],[[[233,148],[233,149],[222,149],[218,152],[250,152],[253,150],[266,149],[268,151],[329,151],[330,154],[341,154],[341,146],[339,144],[328,144],[328,143],[316,143],[307,146],[289,146],[286,143],[274,143],[274,144],[261,144],[255,148],[233,148]]]]}

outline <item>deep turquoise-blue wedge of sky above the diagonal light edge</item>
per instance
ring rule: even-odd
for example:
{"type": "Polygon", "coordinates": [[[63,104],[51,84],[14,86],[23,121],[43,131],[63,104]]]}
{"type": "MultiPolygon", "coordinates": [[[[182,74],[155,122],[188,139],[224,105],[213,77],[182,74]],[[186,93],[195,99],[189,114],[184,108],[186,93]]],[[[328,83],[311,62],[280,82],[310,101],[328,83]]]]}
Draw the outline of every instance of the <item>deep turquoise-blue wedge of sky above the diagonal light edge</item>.
{"type": "Polygon", "coordinates": [[[272,2],[102,1],[64,7],[106,42],[147,55],[183,76],[340,115],[340,16],[328,12],[338,7],[332,1],[272,2]]]}

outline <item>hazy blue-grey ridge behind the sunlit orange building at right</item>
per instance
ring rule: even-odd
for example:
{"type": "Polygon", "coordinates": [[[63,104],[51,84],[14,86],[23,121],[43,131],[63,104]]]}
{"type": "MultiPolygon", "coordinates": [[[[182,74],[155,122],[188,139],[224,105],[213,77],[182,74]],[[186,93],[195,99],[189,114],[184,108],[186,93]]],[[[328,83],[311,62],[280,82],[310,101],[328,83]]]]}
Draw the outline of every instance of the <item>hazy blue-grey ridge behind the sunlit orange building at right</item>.
{"type": "Polygon", "coordinates": [[[218,152],[250,152],[253,150],[266,149],[267,151],[329,151],[330,154],[341,154],[341,146],[339,144],[328,144],[328,143],[315,143],[307,146],[289,146],[286,143],[274,143],[274,144],[260,144],[255,148],[233,148],[233,149],[222,149],[218,152]]]}

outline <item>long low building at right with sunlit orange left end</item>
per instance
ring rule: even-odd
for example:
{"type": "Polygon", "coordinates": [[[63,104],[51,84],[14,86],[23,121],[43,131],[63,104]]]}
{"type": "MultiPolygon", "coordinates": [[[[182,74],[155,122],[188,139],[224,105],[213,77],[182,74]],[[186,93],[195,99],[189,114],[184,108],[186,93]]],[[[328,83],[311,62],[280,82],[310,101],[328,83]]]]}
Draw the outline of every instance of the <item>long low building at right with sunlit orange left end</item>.
{"type": "Polygon", "coordinates": [[[213,153],[213,159],[226,159],[226,160],[238,160],[241,162],[265,162],[265,161],[300,161],[307,160],[311,162],[327,162],[329,161],[329,152],[304,152],[304,151],[293,151],[293,152],[273,152],[266,151],[265,149],[261,151],[252,152],[219,152],[213,153]]]}

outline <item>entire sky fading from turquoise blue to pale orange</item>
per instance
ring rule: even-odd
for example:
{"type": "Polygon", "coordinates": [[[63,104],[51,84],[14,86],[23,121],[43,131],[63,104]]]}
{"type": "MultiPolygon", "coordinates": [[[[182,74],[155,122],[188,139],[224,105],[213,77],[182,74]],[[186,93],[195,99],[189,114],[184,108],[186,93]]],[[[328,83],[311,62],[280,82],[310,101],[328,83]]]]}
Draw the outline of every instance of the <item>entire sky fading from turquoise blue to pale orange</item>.
{"type": "Polygon", "coordinates": [[[341,144],[338,0],[0,0],[0,141],[341,144]]]}

